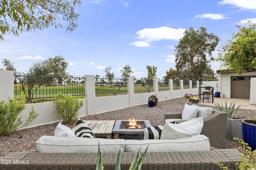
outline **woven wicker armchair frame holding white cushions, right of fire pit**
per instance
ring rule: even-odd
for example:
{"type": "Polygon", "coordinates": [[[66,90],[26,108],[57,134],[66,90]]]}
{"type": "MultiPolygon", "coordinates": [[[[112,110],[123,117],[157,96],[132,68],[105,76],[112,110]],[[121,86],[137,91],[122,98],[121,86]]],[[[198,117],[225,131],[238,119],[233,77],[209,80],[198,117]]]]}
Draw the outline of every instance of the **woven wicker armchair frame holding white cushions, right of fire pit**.
{"type": "MultiPolygon", "coordinates": [[[[214,148],[226,148],[226,124],[228,113],[218,110],[213,110],[212,114],[204,117],[204,126],[201,135],[205,135],[210,139],[210,145],[214,148]]],[[[166,119],[181,119],[180,113],[164,114],[164,122],[166,119]]],[[[185,120],[176,121],[176,123],[184,122],[185,120]]]]}

